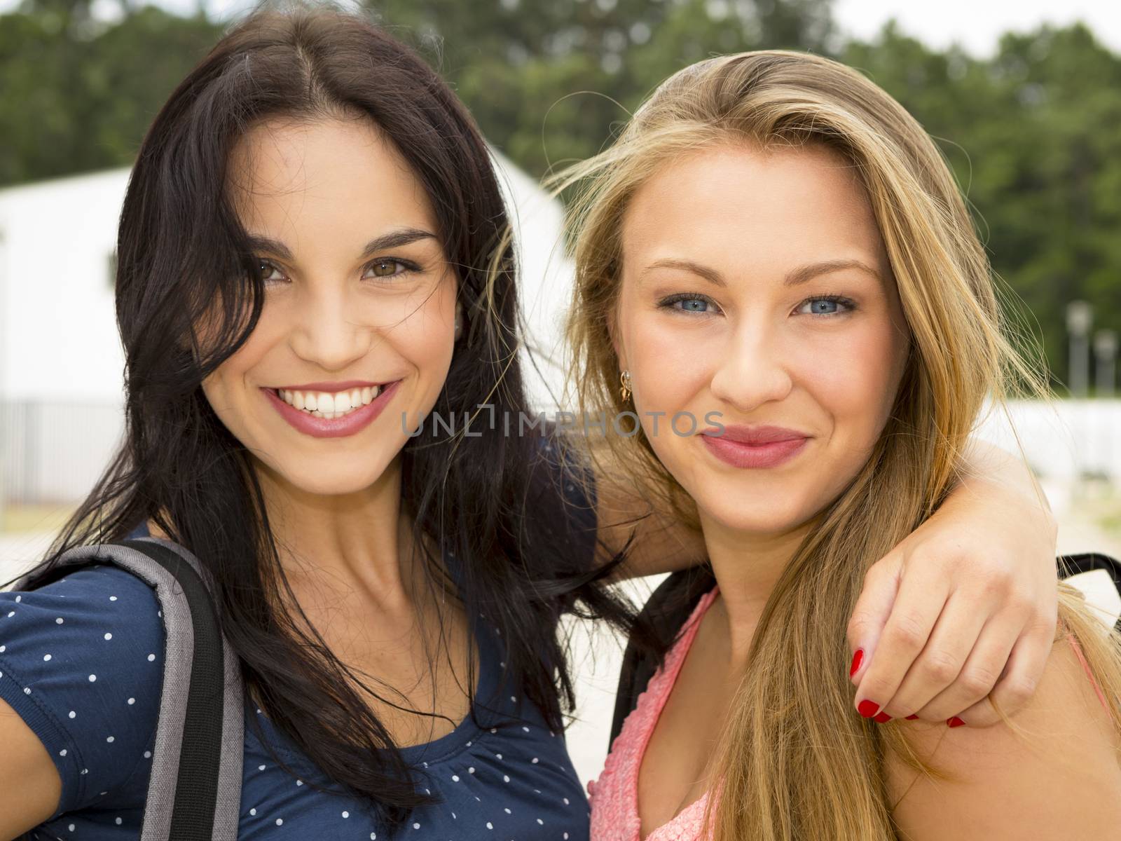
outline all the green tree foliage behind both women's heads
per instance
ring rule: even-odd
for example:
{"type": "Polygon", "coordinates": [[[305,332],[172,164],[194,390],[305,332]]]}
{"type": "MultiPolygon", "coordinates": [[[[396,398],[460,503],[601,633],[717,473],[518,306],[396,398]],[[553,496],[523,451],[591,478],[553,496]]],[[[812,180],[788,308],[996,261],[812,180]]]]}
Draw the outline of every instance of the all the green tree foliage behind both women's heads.
{"type": "MultiPolygon", "coordinates": [[[[25,0],[0,16],[0,184],[132,161],[222,21],[129,0],[25,0]]],[[[808,49],[859,67],[938,138],[997,272],[1055,371],[1065,304],[1121,330],[1121,56],[1083,25],[1008,34],[994,56],[888,24],[842,41],[830,0],[368,0],[534,175],[594,154],[642,98],[717,53],[808,49]]]]}

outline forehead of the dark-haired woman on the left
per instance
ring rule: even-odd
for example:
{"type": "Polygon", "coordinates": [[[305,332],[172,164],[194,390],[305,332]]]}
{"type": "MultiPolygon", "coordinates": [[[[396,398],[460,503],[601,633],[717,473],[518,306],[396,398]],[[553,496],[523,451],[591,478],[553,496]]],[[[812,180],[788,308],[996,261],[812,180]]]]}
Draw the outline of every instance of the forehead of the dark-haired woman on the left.
{"type": "Polygon", "coordinates": [[[392,141],[369,119],[270,120],[231,154],[231,197],[247,225],[300,222],[434,227],[432,202],[392,141]]]}

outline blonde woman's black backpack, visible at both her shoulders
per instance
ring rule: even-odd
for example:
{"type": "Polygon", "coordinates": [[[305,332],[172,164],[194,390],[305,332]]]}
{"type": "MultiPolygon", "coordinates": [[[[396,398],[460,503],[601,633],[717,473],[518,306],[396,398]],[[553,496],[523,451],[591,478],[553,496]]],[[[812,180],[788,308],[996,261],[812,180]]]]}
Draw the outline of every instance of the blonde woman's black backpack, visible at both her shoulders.
{"type": "MultiPolygon", "coordinates": [[[[1121,598],[1121,561],[1096,552],[1062,555],[1058,561],[1059,569],[1064,571],[1064,580],[1071,581],[1084,573],[1099,576],[1105,574],[1121,598]]],[[[664,650],[673,645],[677,632],[693,613],[701,597],[715,585],[716,579],[708,567],[694,567],[671,573],[650,594],[640,616],[650,620],[664,650]]],[[[1118,617],[1114,629],[1121,632],[1121,617],[1118,617]]],[[[660,657],[646,648],[640,648],[633,640],[627,643],[619,674],[619,688],[615,693],[609,750],[623,729],[623,721],[638,704],[638,696],[646,690],[660,665],[660,657]]]]}

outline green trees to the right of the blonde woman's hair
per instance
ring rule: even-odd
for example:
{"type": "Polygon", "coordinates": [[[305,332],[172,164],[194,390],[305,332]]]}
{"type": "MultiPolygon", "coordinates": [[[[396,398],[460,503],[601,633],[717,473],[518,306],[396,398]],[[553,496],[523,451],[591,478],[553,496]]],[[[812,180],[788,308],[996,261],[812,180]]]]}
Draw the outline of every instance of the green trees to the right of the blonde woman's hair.
{"type": "Polygon", "coordinates": [[[840,58],[939,140],[1015,293],[1009,315],[1065,380],[1067,302],[1086,299],[1095,326],[1121,329],[1121,58],[1081,24],[1006,35],[985,61],[888,25],[840,58]]]}

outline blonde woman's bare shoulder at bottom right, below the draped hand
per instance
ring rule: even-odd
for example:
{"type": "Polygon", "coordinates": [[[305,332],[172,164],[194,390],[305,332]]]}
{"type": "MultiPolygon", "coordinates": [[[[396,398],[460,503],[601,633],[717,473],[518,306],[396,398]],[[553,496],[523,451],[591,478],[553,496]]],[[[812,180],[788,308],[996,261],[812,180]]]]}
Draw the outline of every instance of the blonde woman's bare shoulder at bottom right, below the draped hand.
{"type": "Polygon", "coordinates": [[[1121,739],[1071,643],[1051,648],[1022,730],[902,722],[918,757],[952,776],[932,779],[889,751],[884,774],[899,837],[1104,839],[1121,826],[1121,739]]]}

